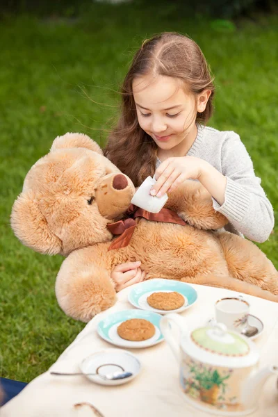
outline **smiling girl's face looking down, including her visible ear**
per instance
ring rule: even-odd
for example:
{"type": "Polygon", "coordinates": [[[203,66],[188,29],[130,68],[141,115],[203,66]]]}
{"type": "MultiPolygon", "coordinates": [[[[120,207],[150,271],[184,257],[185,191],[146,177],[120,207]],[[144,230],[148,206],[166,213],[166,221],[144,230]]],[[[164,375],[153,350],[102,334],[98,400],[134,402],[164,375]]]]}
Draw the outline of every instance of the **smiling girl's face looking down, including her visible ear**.
{"type": "MultiPolygon", "coordinates": [[[[211,94],[186,92],[179,79],[170,76],[139,76],[133,81],[138,122],[161,149],[172,149],[186,140],[195,127],[197,111],[206,108],[211,94]]],[[[208,92],[208,93],[207,93],[208,92]]]]}

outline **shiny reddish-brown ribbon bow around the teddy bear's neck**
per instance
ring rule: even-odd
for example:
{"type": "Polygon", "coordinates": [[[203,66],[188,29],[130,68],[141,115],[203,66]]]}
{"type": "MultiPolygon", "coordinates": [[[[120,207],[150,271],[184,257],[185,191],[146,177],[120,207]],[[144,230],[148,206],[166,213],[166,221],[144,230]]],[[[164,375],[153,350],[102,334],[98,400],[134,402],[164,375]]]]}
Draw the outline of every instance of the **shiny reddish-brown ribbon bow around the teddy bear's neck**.
{"type": "Polygon", "coordinates": [[[149,213],[149,211],[143,210],[131,204],[126,210],[125,215],[128,218],[120,220],[119,222],[107,224],[108,230],[115,235],[120,235],[118,238],[113,240],[111,245],[108,247],[108,250],[120,249],[120,247],[126,247],[129,245],[133,231],[136,228],[136,218],[145,218],[151,222],[166,222],[166,223],[175,223],[181,224],[184,226],[186,222],[182,220],[177,213],[169,208],[161,208],[159,213],[149,213]]]}

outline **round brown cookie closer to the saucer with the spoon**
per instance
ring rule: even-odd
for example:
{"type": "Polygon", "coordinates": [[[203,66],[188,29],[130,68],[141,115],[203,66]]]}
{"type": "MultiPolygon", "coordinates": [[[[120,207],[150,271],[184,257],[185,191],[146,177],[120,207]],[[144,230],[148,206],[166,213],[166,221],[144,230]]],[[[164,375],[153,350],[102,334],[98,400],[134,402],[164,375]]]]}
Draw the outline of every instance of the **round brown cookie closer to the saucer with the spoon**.
{"type": "Polygon", "coordinates": [[[154,336],[154,325],[144,318],[131,318],[117,327],[117,334],[126,341],[141,342],[154,336]]]}

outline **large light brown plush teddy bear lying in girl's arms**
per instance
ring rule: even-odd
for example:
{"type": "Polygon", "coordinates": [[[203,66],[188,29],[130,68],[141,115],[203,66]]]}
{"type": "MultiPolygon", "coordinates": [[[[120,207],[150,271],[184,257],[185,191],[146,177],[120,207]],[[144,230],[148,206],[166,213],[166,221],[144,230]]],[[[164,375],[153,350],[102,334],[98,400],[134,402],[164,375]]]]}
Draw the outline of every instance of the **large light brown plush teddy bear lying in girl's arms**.
{"type": "Polygon", "coordinates": [[[56,279],[58,303],[67,315],[87,322],[112,306],[117,297],[111,270],[138,260],[146,279],[179,279],[278,302],[272,263],[249,240],[216,231],[227,219],[214,211],[197,181],[170,193],[167,202],[186,224],[137,218],[129,244],[108,250],[114,236],[107,225],[123,217],[134,192],[99,145],[79,133],[56,138],[26,175],[11,224],[24,245],[67,256],[56,279]]]}

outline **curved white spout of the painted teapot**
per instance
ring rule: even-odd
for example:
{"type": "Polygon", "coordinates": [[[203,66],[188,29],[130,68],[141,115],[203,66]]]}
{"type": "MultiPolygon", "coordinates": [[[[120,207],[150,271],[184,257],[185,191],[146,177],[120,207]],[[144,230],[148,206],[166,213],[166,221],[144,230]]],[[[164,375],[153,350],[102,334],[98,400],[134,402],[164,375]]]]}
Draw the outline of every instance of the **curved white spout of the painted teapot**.
{"type": "Polygon", "coordinates": [[[278,366],[265,366],[265,368],[259,370],[255,375],[250,377],[243,389],[243,404],[249,409],[255,408],[263,385],[271,375],[278,376],[278,366]]]}

